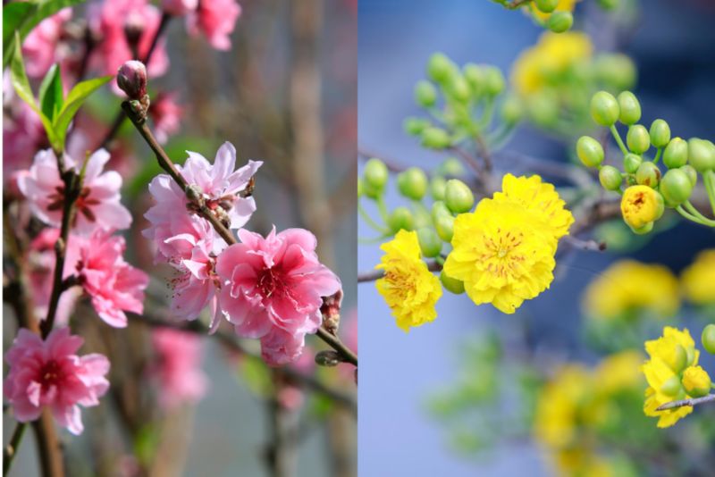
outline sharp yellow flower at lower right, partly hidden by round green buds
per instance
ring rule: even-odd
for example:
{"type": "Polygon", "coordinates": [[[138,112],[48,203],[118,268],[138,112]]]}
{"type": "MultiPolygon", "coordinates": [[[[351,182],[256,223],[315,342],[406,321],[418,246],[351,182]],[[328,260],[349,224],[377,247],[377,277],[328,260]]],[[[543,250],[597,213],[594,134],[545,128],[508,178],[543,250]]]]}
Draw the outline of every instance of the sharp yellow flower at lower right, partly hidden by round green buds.
{"type": "Polygon", "coordinates": [[[687,330],[679,331],[666,326],[663,336],[645,342],[645,350],[651,359],[643,364],[648,389],[645,389],[644,413],[659,417],[658,427],[670,427],[687,414],[693,412],[692,406],[682,406],[666,411],[656,409],[670,401],[690,397],[680,385],[681,372],[686,366],[698,363],[700,352],[695,349],[695,342],[687,330]]]}

